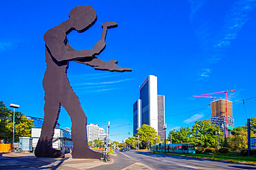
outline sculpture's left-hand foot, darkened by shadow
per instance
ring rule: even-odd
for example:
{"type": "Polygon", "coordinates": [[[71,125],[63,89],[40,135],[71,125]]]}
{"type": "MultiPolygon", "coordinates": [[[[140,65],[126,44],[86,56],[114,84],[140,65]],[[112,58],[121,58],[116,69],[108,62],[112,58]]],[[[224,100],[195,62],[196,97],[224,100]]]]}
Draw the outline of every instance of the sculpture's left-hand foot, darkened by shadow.
{"type": "Polygon", "coordinates": [[[35,148],[35,156],[37,158],[64,158],[65,154],[60,150],[53,149],[52,147],[37,145],[35,148]]]}

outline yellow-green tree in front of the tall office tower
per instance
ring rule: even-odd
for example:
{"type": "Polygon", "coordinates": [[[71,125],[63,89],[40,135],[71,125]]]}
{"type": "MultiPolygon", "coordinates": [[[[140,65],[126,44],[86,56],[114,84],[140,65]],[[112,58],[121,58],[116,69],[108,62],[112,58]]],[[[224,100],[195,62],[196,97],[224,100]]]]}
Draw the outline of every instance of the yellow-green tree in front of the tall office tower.
{"type": "Polygon", "coordinates": [[[160,140],[160,136],[157,135],[156,130],[149,125],[143,124],[142,127],[137,129],[137,131],[138,134],[136,134],[136,136],[140,136],[139,140],[141,141],[143,147],[147,149],[149,149],[149,144],[154,144],[156,137],[160,140]]]}

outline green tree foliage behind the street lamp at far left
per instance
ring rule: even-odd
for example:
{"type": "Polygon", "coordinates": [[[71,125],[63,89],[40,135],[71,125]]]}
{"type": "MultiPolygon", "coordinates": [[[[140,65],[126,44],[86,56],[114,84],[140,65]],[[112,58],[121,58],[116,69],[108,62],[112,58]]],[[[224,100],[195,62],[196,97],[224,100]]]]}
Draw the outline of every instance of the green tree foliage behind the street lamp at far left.
{"type": "MultiPolygon", "coordinates": [[[[0,139],[5,142],[12,141],[13,111],[6,108],[3,101],[0,101],[0,139]]],[[[33,120],[30,120],[15,111],[15,142],[19,141],[19,137],[30,137],[33,120]]]]}

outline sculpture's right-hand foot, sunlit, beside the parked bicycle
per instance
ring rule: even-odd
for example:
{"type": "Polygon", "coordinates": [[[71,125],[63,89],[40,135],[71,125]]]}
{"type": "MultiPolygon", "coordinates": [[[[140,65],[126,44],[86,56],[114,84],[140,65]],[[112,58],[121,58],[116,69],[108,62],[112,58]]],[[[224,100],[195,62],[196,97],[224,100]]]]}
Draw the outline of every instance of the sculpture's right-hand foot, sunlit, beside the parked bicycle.
{"type": "Polygon", "coordinates": [[[73,158],[91,158],[98,159],[103,157],[103,154],[98,151],[93,151],[91,149],[73,149],[72,151],[73,158]]]}

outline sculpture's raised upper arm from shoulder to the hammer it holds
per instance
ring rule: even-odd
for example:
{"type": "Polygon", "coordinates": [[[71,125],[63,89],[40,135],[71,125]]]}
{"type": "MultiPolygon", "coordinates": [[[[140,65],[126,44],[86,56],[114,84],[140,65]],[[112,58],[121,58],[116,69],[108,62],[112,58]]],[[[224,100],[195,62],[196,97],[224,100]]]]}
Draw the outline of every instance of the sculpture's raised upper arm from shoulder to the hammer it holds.
{"type": "Polygon", "coordinates": [[[116,26],[117,24],[114,22],[102,23],[103,30],[101,39],[94,45],[93,49],[91,50],[76,51],[73,50],[73,48],[71,48],[70,46],[66,47],[63,42],[63,37],[65,37],[66,34],[64,35],[57,32],[60,30],[51,30],[51,32],[49,33],[46,32],[46,34],[44,35],[44,41],[46,42],[46,47],[48,47],[48,50],[50,50],[51,55],[57,61],[74,61],[79,59],[92,58],[93,56],[100,54],[100,52],[104,50],[104,47],[106,46],[105,38],[107,35],[107,29],[116,26]]]}

